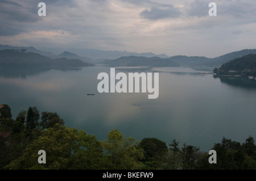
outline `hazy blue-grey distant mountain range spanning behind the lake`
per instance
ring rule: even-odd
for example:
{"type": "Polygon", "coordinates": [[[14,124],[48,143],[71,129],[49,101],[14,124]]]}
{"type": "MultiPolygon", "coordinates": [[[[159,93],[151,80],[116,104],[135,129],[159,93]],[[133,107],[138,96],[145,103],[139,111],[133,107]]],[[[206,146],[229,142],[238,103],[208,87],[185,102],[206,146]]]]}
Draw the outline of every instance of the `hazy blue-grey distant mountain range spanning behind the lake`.
{"type": "MultiPolygon", "coordinates": [[[[11,47],[9,45],[0,45],[3,49],[27,49],[28,52],[39,53],[43,56],[55,58],[77,59],[90,64],[108,64],[110,66],[185,66],[185,67],[220,67],[222,64],[242,57],[247,54],[256,54],[256,49],[243,49],[237,52],[224,54],[220,57],[208,58],[200,56],[172,56],[166,54],[156,55],[154,53],[131,53],[120,51],[105,51],[97,49],[68,49],[59,55],[50,51],[38,50],[34,47],[11,47]]],[[[59,49],[61,50],[61,49],[59,49]]]]}

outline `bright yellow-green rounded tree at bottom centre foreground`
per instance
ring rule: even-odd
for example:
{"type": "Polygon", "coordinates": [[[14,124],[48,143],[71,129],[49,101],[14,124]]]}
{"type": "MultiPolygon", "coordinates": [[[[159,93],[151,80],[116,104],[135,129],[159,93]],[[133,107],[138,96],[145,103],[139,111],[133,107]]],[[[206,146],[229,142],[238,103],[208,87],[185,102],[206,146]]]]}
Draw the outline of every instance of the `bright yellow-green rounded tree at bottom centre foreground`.
{"type": "Polygon", "coordinates": [[[134,138],[125,138],[117,129],[109,132],[108,140],[102,142],[109,162],[113,168],[110,169],[141,169],[143,150],[138,146],[139,142],[134,138]]]}

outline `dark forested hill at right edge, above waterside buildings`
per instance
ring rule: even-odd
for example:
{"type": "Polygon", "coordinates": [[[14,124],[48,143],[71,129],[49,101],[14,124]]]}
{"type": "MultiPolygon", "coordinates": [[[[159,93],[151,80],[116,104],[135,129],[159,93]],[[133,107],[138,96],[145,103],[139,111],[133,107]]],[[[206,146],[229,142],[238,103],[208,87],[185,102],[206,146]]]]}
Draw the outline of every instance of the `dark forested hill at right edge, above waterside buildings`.
{"type": "Polygon", "coordinates": [[[256,75],[256,54],[247,54],[246,56],[235,58],[225,64],[221,65],[218,70],[220,74],[227,74],[230,70],[236,71],[237,74],[241,74],[244,69],[249,69],[249,75],[256,75]]]}

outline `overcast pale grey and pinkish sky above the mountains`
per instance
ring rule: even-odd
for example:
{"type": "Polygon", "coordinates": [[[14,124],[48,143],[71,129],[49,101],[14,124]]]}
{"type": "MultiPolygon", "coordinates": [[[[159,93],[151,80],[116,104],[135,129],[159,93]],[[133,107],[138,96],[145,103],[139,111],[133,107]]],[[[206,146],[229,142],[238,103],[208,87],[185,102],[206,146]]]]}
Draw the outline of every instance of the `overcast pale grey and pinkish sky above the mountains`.
{"type": "Polygon", "coordinates": [[[256,48],[255,10],[255,0],[1,0],[0,44],[217,57],[256,48]]]}

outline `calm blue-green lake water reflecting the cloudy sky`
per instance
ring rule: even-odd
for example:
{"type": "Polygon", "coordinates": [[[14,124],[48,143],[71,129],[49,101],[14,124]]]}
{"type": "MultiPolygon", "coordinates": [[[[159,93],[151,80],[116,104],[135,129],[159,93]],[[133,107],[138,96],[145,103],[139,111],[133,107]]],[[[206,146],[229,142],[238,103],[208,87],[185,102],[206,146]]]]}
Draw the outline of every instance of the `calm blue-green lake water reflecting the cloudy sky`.
{"type": "Polygon", "coordinates": [[[6,70],[0,73],[0,104],[9,104],[13,118],[36,106],[57,112],[68,127],[85,130],[104,140],[118,129],[125,137],[155,137],[208,151],[222,137],[245,142],[256,138],[256,81],[214,78],[189,68],[120,68],[116,73],[159,72],[159,97],[148,93],[97,91],[97,65],[71,70],[6,70]],[[89,96],[87,94],[95,94],[89,96]]]}

